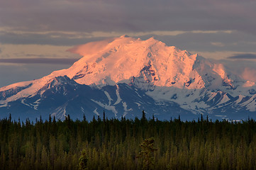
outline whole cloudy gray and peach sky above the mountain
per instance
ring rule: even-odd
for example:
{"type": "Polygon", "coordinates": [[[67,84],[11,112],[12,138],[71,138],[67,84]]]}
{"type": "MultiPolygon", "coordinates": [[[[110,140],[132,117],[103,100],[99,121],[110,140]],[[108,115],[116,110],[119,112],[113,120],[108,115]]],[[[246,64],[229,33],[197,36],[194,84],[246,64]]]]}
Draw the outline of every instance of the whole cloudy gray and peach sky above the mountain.
{"type": "Polygon", "coordinates": [[[68,68],[74,45],[129,35],[256,79],[255,0],[0,0],[0,87],[68,68]],[[245,68],[246,67],[246,68],[245,68]]]}

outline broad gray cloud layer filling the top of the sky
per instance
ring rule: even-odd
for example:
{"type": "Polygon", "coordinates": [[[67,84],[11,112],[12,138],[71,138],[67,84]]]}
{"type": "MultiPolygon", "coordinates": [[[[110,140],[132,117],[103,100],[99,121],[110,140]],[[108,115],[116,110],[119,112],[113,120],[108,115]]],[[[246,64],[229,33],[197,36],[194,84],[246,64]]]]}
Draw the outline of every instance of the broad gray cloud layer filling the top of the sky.
{"type": "Polygon", "coordinates": [[[256,34],[256,3],[247,1],[5,1],[1,26],[16,30],[240,30],[256,34]]]}

